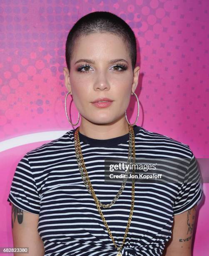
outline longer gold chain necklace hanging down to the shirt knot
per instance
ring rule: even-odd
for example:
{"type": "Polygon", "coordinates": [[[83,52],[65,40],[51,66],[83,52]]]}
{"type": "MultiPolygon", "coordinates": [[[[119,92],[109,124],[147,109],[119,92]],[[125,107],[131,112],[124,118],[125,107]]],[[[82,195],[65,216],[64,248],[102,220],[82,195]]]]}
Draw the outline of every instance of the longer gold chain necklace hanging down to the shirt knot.
{"type": "MultiPolygon", "coordinates": [[[[131,133],[132,133],[132,154],[133,154],[133,164],[135,164],[135,140],[134,140],[134,131],[133,131],[133,127],[131,125],[129,125],[129,128],[131,129],[131,133]],[[130,128],[131,127],[131,128],[130,128]]],[[[128,230],[129,230],[129,227],[130,227],[130,224],[131,224],[131,220],[132,220],[132,215],[133,215],[133,211],[134,211],[134,186],[135,186],[135,178],[132,178],[132,204],[131,204],[131,209],[130,209],[130,214],[129,214],[129,219],[128,219],[128,223],[127,223],[127,227],[126,227],[126,231],[125,231],[125,234],[124,234],[124,238],[123,238],[123,241],[122,241],[122,245],[120,247],[117,247],[115,241],[114,241],[114,238],[112,236],[112,233],[107,225],[107,222],[104,218],[104,215],[100,209],[100,204],[99,204],[99,201],[95,195],[95,192],[94,192],[94,189],[92,187],[92,184],[90,182],[90,179],[89,179],[89,176],[87,174],[87,170],[85,168],[85,163],[84,163],[84,159],[83,159],[83,156],[82,156],[82,152],[81,152],[81,147],[80,147],[80,141],[77,141],[77,138],[79,138],[78,136],[78,128],[77,130],[75,131],[75,143],[77,145],[77,147],[75,148],[75,151],[76,151],[76,154],[79,154],[80,156],[80,159],[82,160],[81,161],[81,164],[82,164],[82,168],[84,170],[84,175],[85,175],[85,178],[87,180],[87,183],[88,183],[88,186],[90,187],[91,189],[91,194],[92,194],[92,197],[94,198],[95,200],[95,203],[96,203],[96,206],[97,206],[97,210],[99,211],[100,213],[100,216],[102,218],[102,221],[105,225],[105,227],[107,228],[107,232],[109,233],[109,236],[110,238],[112,239],[113,243],[114,243],[114,246],[117,248],[117,256],[122,256],[122,253],[120,252],[121,249],[122,249],[122,246],[124,245],[124,242],[125,242],[125,239],[127,237],[127,234],[128,234],[128,230]]],[[[133,165],[134,166],[134,165],[133,165]]],[[[135,175],[135,166],[134,168],[132,169],[133,170],[133,175],[135,175]]],[[[134,176],[133,176],[134,177],[134,176]]]]}

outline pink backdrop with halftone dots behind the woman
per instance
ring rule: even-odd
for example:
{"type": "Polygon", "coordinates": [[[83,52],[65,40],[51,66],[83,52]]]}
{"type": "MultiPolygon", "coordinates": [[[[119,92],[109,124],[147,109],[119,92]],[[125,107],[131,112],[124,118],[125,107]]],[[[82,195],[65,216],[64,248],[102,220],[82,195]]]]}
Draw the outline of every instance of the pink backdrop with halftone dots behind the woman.
{"type": "MultiPolygon", "coordinates": [[[[1,0],[1,247],[13,247],[7,196],[18,161],[75,128],[65,115],[65,42],[73,24],[97,10],[119,15],[137,38],[137,125],[188,144],[196,158],[209,158],[209,1],[1,0]]],[[[136,114],[132,96],[131,123],[136,114]]],[[[73,103],[71,115],[75,123],[73,103]]],[[[203,189],[194,256],[209,255],[209,184],[203,189]]]]}

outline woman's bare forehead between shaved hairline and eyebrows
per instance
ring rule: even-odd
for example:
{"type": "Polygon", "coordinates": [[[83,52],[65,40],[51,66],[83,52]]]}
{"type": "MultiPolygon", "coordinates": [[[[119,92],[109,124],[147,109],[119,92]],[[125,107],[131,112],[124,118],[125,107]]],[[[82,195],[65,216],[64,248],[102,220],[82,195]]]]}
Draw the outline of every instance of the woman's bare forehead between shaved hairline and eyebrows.
{"type": "Polygon", "coordinates": [[[75,47],[73,60],[80,58],[88,59],[129,59],[127,47],[122,38],[112,33],[92,33],[80,36],[75,47]]]}

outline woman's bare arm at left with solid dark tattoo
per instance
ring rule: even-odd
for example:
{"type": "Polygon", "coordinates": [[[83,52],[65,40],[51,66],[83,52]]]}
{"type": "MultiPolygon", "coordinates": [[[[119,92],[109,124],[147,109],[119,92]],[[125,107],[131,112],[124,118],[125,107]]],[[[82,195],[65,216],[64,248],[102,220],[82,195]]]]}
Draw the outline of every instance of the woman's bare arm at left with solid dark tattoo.
{"type": "Polygon", "coordinates": [[[29,247],[28,254],[14,253],[14,256],[44,256],[44,244],[37,230],[38,218],[12,204],[13,247],[29,247]]]}

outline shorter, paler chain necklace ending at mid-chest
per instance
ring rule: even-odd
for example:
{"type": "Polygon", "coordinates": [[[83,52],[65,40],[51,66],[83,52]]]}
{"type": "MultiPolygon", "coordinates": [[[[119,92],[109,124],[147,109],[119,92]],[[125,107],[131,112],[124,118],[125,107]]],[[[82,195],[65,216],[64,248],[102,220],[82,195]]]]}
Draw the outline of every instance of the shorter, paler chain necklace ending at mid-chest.
{"type": "MultiPolygon", "coordinates": [[[[128,160],[127,160],[127,166],[128,166],[128,171],[123,179],[123,182],[121,184],[121,187],[119,189],[119,191],[117,192],[117,195],[114,197],[114,199],[112,200],[111,203],[105,205],[105,204],[102,204],[102,202],[100,202],[100,200],[97,198],[99,204],[100,204],[100,207],[103,207],[103,208],[108,208],[108,207],[112,207],[112,205],[114,205],[114,203],[117,201],[117,199],[119,198],[119,196],[122,194],[123,192],[123,189],[125,187],[125,184],[127,182],[127,178],[128,178],[128,174],[129,174],[129,164],[130,164],[130,161],[131,161],[131,154],[132,154],[132,126],[129,125],[129,152],[128,152],[128,160]]],[[[79,127],[77,128],[77,133],[75,133],[75,151],[77,152],[76,154],[76,158],[77,158],[77,163],[78,163],[78,166],[79,166],[79,171],[80,171],[80,174],[81,174],[81,177],[83,179],[83,182],[88,190],[88,192],[92,195],[92,192],[91,192],[91,189],[88,185],[88,182],[86,180],[86,177],[85,177],[85,174],[83,172],[83,168],[82,168],[82,164],[85,165],[83,159],[80,159],[80,155],[79,155],[79,151],[81,151],[81,149],[79,148],[79,145],[80,145],[80,139],[79,139],[79,135],[78,135],[78,132],[79,132],[79,127]]]]}

